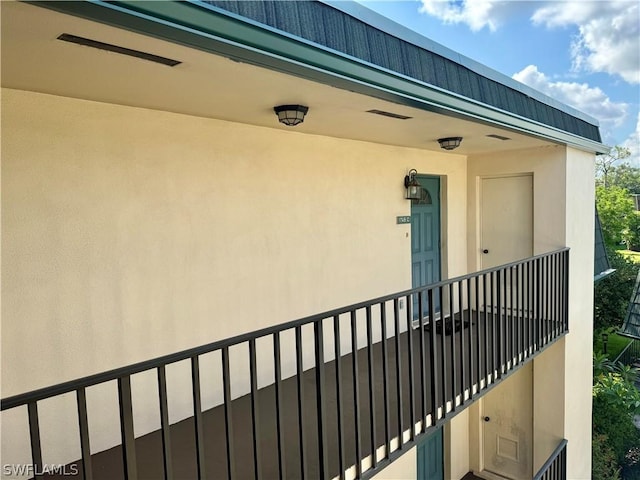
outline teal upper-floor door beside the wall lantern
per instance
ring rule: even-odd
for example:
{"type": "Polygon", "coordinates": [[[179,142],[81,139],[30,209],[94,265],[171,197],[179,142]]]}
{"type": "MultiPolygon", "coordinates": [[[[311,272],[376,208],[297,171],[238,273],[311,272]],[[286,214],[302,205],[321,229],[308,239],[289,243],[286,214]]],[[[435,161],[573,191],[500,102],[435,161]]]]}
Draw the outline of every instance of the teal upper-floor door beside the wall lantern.
{"type": "MultiPolygon", "coordinates": [[[[413,288],[440,281],[440,178],[417,176],[422,198],[411,201],[411,277],[413,288]]],[[[418,312],[417,298],[413,312],[418,312]]],[[[426,313],[426,301],[423,315],[426,313]]],[[[436,310],[439,299],[434,299],[436,310]]],[[[414,315],[417,317],[417,315],[414,315]]]]}

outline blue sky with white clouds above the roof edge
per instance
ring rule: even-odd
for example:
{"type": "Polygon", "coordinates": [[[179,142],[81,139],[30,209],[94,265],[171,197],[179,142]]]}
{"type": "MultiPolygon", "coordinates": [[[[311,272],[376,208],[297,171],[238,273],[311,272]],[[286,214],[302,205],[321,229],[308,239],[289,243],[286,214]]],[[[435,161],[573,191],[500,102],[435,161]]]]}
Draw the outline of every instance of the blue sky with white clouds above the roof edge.
{"type": "Polygon", "coordinates": [[[359,0],[600,122],[640,167],[639,0],[359,0]]]}

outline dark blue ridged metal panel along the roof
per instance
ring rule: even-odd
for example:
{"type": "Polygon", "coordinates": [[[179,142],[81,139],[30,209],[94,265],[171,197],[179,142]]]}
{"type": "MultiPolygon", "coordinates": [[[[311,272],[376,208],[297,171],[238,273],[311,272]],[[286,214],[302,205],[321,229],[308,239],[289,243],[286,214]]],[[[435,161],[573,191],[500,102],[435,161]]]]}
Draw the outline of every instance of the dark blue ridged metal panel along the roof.
{"type": "Polygon", "coordinates": [[[601,141],[596,125],[394,37],[329,5],[295,0],[208,0],[206,3],[501,110],[601,141]]]}

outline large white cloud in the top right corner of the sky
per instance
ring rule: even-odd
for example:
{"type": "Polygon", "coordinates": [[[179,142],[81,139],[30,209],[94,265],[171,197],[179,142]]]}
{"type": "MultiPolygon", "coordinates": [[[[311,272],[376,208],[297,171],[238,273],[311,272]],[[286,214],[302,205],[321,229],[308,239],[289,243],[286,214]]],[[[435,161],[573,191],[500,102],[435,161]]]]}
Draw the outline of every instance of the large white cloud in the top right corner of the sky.
{"type": "Polygon", "coordinates": [[[537,9],[531,20],[548,28],[578,27],[571,48],[575,70],[605,72],[640,83],[638,18],[640,3],[635,0],[556,1],[537,9]]]}

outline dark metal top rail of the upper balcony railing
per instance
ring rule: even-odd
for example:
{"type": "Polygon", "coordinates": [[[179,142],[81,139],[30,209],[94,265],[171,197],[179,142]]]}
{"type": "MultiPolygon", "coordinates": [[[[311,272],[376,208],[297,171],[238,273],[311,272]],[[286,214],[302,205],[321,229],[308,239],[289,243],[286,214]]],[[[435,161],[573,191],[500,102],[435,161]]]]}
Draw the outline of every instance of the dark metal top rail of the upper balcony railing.
{"type": "Polygon", "coordinates": [[[21,393],[18,395],[13,395],[7,398],[3,398],[1,403],[0,403],[0,410],[8,410],[10,408],[15,408],[15,407],[19,407],[21,405],[26,405],[28,403],[31,402],[37,402],[39,400],[43,400],[45,398],[49,398],[49,397],[53,397],[53,396],[57,396],[57,395],[62,395],[65,393],[69,393],[72,392],[74,390],[77,390],[79,388],[86,388],[86,387],[91,387],[94,385],[97,385],[99,383],[104,383],[104,382],[109,382],[109,381],[113,381],[116,380],[120,377],[124,377],[124,376],[128,376],[128,375],[133,375],[136,373],[140,373],[140,372],[144,372],[146,370],[151,370],[153,368],[158,368],[162,365],[169,365],[172,363],[176,363],[182,360],[186,360],[198,355],[204,355],[206,353],[210,353],[213,352],[215,350],[221,350],[223,348],[228,348],[228,347],[232,347],[234,345],[238,345],[244,342],[247,342],[249,340],[252,339],[257,339],[257,338],[262,338],[262,337],[266,337],[269,335],[273,335],[274,333],[279,333],[279,332],[283,332],[285,330],[290,330],[296,327],[300,327],[300,326],[304,326],[310,323],[314,323],[320,320],[324,320],[326,318],[332,318],[338,315],[343,315],[345,313],[349,313],[351,311],[354,310],[360,310],[362,308],[365,308],[367,306],[370,305],[377,305],[377,304],[381,304],[381,303],[385,303],[388,301],[392,301],[395,299],[399,299],[399,298],[403,298],[406,297],[408,295],[411,295],[412,293],[416,293],[416,292],[420,292],[420,291],[425,291],[425,290],[434,290],[440,287],[443,287],[445,285],[449,285],[452,283],[456,283],[456,282],[460,282],[460,281],[464,281],[467,279],[471,279],[480,275],[486,275],[492,272],[497,272],[500,270],[505,270],[508,268],[512,268],[515,267],[517,265],[522,265],[525,263],[529,263],[532,261],[535,261],[537,259],[541,259],[541,258],[545,258],[545,257],[550,257],[552,255],[557,255],[559,253],[563,253],[563,252],[568,252],[569,248],[565,247],[565,248],[561,248],[552,252],[547,252],[547,253],[543,253],[540,255],[535,255],[533,257],[528,257],[526,259],[523,260],[518,260],[512,263],[508,263],[505,265],[500,265],[497,267],[493,267],[490,269],[486,269],[486,270],[480,270],[477,272],[473,272],[473,273],[469,273],[466,275],[462,275],[459,277],[455,277],[455,278],[451,278],[451,279],[447,279],[447,280],[442,280],[438,283],[433,283],[430,284],[428,286],[422,286],[422,287],[417,287],[417,288],[412,288],[409,290],[404,290],[398,293],[394,293],[394,294],[389,294],[389,295],[384,295],[382,297],[378,297],[378,298],[374,298],[371,300],[367,300],[364,302],[360,302],[360,303],[355,303],[352,305],[348,305],[345,307],[340,307],[340,308],[336,308],[333,310],[329,310],[323,313],[319,313],[319,314],[315,314],[315,315],[311,315],[308,317],[303,317],[301,319],[298,320],[292,320],[286,323],[282,323],[282,324],[278,324],[278,325],[273,325],[270,327],[266,327],[260,330],[255,330],[252,332],[247,332],[247,333],[243,333],[240,335],[236,335],[234,337],[229,337],[229,338],[225,338],[223,340],[218,340],[215,342],[211,342],[211,343],[207,343],[205,345],[200,345],[198,347],[193,347],[193,348],[189,348],[186,350],[182,350],[180,352],[175,352],[172,354],[168,354],[168,355],[163,355],[160,357],[156,357],[150,360],[144,360],[142,362],[138,362],[138,363],[134,363],[132,365],[127,365],[124,367],[120,367],[120,368],[115,368],[112,370],[107,370],[105,372],[101,372],[101,373],[96,373],[93,375],[88,375],[86,377],[81,377],[75,380],[70,380],[67,382],[63,382],[63,383],[59,383],[57,385],[53,385],[53,386],[49,386],[49,387],[44,387],[44,388],[39,388],[36,390],[32,390],[30,392],[26,392],[26,393],[21,393]]]}

